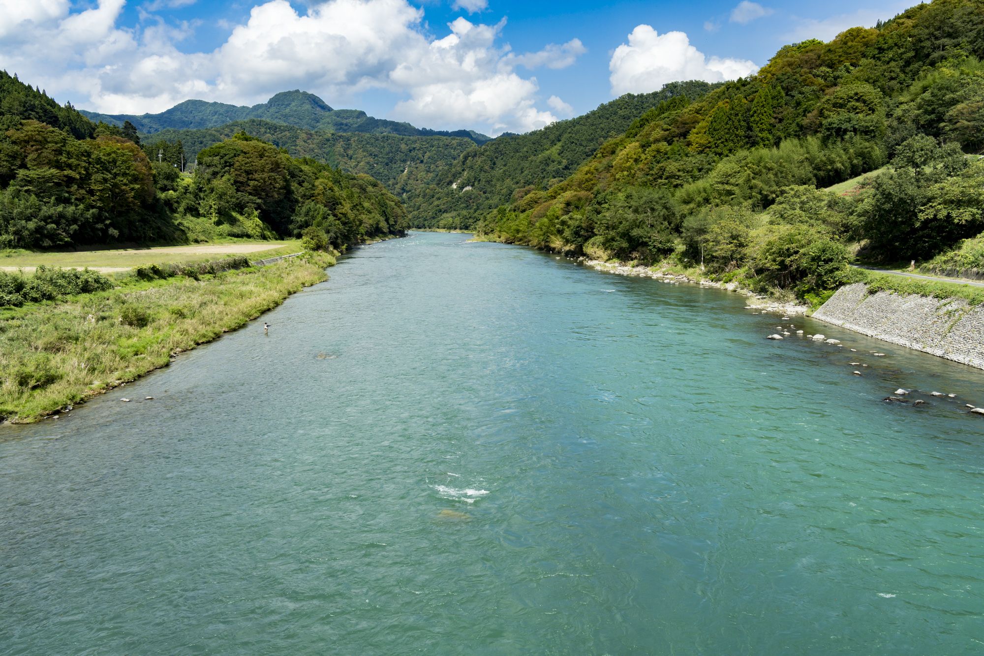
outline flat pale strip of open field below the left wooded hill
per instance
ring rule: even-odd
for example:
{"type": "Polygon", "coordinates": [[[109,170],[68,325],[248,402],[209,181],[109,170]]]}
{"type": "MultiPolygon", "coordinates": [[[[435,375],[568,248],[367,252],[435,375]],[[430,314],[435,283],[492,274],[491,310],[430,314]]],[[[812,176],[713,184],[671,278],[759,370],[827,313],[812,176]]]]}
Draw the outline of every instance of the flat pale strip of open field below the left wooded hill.
{"type": "Polygon", "coordinates": [[[80,251],[31,251],[0,250],[0,267],[136,267],[142,264],[171,264],[174,262],[201,262],[214,260],[222,255],[247,254],[251,260],[266,259],[277,255],[289,255],[304,250],[299,239],[261,241],[256,239],[227,241],[225,243],[194,244],[188,246],[158,246],[154,248],[93,248],[80,251]],[[247,252],[248,246],[272,246],[270,250],[247,252]],[[187,252],[188,248],[221,247],[221,253],[187,252]]]}

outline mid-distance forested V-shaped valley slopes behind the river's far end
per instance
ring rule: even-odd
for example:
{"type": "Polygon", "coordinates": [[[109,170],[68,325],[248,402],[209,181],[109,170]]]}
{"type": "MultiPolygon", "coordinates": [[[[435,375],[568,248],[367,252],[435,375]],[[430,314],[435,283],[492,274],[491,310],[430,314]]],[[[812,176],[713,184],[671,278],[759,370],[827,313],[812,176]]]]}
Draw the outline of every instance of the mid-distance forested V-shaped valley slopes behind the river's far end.
{"type": "Polygon", "coordinates": [[[162,130],[146,136],[145,142],[152,159],[167,150],[166,144],[180,142],[186,159],[193,161],[202,148],[242,130],[295,156],[372,175],[400,196],[414,226],[460,229],[473,227],[484,212],[509,202],[517,189],[545,189],[563,179],[662,100],[698,98],[712,88],[687,82],[652,94],[628,94],[583,116],[480,146],[448,137],[329,134],[255,119],[204,130],[162,130]]]}

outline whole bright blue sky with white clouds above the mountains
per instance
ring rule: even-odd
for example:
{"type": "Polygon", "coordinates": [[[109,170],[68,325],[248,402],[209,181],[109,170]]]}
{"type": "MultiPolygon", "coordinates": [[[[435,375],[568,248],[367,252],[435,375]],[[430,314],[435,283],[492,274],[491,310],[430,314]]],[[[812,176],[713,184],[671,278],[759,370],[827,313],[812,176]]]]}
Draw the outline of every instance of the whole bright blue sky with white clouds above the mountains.
{"type": "Polygon", "coordinates": [[[674,79],[748,75],[912,2],[0,0],[0,67],[107,112],[300,88],[433,128],[525,131],[674,79]]]}

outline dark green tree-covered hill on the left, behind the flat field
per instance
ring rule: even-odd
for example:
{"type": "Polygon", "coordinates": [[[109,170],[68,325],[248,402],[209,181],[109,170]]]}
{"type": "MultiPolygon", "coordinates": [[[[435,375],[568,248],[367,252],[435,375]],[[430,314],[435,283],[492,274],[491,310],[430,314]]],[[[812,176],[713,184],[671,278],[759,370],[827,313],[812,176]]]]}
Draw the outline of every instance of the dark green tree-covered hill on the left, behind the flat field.
{"type": "Polygon", "coordinates": [[[139,141],[0,73],[0,247],[302,233],[343,247],[406,227],[371,177],[245,134],[201,153],[193,176],[139,141]]]}

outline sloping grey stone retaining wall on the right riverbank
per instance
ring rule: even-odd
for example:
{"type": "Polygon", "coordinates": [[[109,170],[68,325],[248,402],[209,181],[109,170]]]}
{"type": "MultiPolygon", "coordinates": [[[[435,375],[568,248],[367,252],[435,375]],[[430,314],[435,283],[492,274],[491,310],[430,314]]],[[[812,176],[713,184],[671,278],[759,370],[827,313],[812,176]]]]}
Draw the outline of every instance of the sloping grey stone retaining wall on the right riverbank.
{"type": "Polygon", "coordinates": [[[837,291],[813,315],[892,344],[984,369],[984,305],[962,298],[879,292],[863,283],[837,291]]]}

